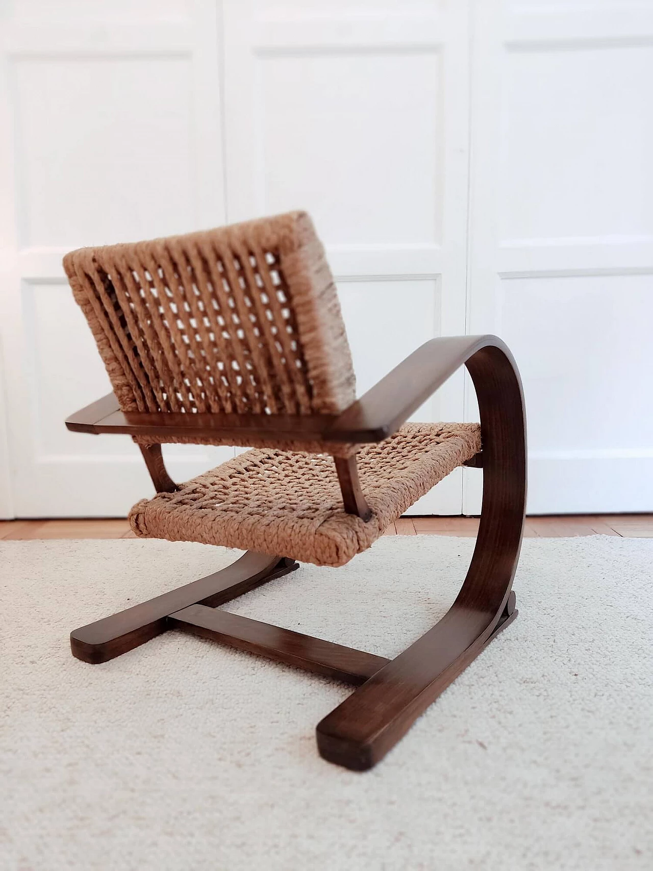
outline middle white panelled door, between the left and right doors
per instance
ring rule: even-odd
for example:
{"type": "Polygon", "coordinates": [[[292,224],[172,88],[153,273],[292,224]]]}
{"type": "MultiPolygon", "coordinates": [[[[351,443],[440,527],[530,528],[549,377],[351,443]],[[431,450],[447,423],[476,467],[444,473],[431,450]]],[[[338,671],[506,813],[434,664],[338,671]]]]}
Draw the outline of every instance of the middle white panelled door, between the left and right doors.
{"type": "MultiPolygon", "coordinates": [[[[227,215],[305,208],[364,392],[465,331],[467,3],[224,3],[227,215]]],[[[461,420],[462,375],[416,419],[461,420]]],[[[415,512],[458,514],[461,473],[415,512]]]]}

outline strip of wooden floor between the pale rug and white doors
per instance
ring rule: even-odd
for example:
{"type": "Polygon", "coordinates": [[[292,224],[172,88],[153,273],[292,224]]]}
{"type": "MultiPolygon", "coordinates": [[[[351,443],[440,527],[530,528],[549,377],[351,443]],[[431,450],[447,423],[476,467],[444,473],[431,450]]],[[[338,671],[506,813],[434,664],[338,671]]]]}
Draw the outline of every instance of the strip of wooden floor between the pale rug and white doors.
{"type": "MultiPolygon", "coordinates": [[[[387,536],[473,537],[478,517],[400,517],[387,528],[387,536]]],[[[573,536],[653,537],[653,514],[558,515],[527,517],[527,537],[565,538],[573,536]]],[[[124,519],[106,520],[2,520],[0,538],[133,538],[124,519]]]]}

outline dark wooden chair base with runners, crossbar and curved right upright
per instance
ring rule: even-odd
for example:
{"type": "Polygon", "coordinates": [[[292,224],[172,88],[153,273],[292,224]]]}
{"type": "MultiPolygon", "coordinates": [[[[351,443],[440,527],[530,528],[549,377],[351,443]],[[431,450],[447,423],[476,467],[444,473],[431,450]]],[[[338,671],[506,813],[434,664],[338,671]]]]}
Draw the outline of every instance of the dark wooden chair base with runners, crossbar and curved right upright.
{"type": "MultiPolygon", "coordinates": [[[[359,688],[317,727],[321,755],[347,768],[374,766],[414,720],[517,616],[513,577],[526,504],[526,436],[519,377],[501,348],[467,362],[481,411],[483,503],[465,582],[441,621],[388,661],[299,632],[213,611],[298,566],[249,551],[222,571],[71,633],[73,654],[105,662],[170,628],[213,638],[346,680],[359,688]]],[[[148,468],[161,477],[158,452],[148,468]]],[[[165,483],[165,482],[164,482],[165,483]]]]}

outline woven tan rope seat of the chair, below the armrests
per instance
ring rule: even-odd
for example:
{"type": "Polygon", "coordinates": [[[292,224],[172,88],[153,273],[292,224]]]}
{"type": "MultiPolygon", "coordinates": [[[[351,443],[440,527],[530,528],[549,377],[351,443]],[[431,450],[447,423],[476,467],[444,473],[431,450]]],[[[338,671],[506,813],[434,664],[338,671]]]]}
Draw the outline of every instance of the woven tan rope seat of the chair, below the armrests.
{"type": "Polygon", "coordinates": [[[252,449],[131,509],[139,537],[283,553],[304,563],[343,565],[366,550],[417,499],[481,449],[475,423],[407,423],[358,454],[373,516],[343,510],[333,460],[252,449]]]}

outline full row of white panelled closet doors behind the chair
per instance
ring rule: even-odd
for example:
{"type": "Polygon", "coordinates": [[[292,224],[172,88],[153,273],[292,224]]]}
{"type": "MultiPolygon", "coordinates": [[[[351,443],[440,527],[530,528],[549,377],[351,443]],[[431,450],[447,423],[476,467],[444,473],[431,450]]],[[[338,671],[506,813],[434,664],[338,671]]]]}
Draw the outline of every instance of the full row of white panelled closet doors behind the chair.
{"type": "MultiPolygon", "coordinates": [[[[0,516],[118,516],[151,491],[127,437],[64,429],[109,384],[63,254],[294,208],[359,393],[433,336],[497,333],[529,509],[653,510],[653,0],[4,8],[0,516]]],[[[466,415],[460,374],[415,418],[466,415]]],[[[179,479],[233,453],[165,450],[179,479]]],[[[414,512],[476,513],[480,482],[459,469],[414,512]]]]}

